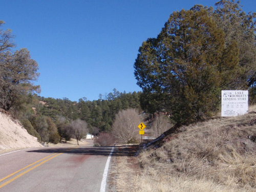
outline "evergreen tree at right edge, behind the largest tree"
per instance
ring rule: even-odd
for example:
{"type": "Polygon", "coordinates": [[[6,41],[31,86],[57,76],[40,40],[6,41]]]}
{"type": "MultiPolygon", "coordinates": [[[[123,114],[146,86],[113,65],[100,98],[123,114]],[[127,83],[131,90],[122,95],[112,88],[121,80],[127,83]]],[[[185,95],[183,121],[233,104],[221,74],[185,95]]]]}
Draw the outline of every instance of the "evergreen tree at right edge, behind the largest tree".
{"type": "Polygon", "coordinates": [[[239,66],[243,74],[235,79],[236,88],[245,89],[256,86],[256,13],[246,14],[240,2],[222,0],[216,3],[217,9],[212,13],[218,26],[224,31],[225,44],[237,41],[239,48],[239,66]]]}

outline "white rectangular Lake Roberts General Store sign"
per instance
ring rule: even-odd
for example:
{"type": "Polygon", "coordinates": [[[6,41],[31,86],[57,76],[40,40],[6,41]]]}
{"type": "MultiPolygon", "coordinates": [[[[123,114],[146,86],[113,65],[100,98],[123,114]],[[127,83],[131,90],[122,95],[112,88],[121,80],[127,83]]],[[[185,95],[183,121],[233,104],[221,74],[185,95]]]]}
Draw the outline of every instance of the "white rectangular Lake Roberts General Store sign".
{"type": "Polygon", "coordinates": [[[248,90],[222,90],[221,116],[231,117],[248,113],[248,90]]]}

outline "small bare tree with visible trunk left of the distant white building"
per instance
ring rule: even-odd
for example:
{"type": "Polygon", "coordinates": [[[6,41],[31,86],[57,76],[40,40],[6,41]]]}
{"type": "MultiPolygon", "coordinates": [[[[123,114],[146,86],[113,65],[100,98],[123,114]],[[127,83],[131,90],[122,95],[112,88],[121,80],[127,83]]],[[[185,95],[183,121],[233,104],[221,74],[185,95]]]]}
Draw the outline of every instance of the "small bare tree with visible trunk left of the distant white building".
{"type": "Polygon", "coordinates": [[[78,141],[88,133],[87,122],[81,119],[76,119],[70,123],[72,134],[75,136],[77,145],[78,141]]]}

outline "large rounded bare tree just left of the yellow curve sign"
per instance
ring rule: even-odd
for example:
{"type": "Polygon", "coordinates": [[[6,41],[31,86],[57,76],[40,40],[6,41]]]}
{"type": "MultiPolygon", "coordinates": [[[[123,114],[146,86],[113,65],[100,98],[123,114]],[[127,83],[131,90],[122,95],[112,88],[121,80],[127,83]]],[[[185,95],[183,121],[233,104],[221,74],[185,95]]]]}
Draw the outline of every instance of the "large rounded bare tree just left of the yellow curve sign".
{"type": "Polygon", "coordinates": [[[136,109],[119,111],[112,125],[112,133],[116,140],[120,143],[128,143],[132,139],[138,139],[138,125],[141,121],[142,117],[136,109]]]}

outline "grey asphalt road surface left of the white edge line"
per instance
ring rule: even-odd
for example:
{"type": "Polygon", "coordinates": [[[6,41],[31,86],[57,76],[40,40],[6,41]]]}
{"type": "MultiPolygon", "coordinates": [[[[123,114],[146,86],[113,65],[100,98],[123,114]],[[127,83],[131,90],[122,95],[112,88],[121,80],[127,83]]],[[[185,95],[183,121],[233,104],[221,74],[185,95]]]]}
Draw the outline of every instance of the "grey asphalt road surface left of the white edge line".
{"type": "Polygon", "coordinates": [[[39,147],[0,156],[0,191],[100,191],[112,147],[39,147]]]}

